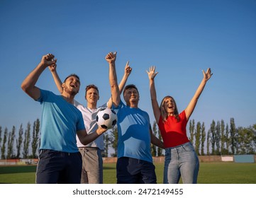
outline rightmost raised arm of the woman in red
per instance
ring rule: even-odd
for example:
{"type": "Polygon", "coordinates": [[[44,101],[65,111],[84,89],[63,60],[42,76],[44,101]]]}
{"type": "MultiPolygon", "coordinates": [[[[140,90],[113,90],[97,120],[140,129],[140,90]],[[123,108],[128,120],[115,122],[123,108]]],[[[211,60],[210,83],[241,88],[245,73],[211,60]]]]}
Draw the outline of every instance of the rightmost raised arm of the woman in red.
{"type": "Polygon", "coordinates": [[[194,94],[193,98],[190,100],[189,105],[185,109],[187,120],[189,120],[189,117],[192,115],[192,112],[194,111],[194,108],[196,107],[196,103],[199,100],[199,97],[204,90],[204,86],[206,86],[206,82],[213,75],[213,74],[211,74],[210,68],[208,68],[206,72],[203,70],[203,74],[204,74],[203,80],[201,81],[199,87],[197,88],[196,93],[194,94]]]}

